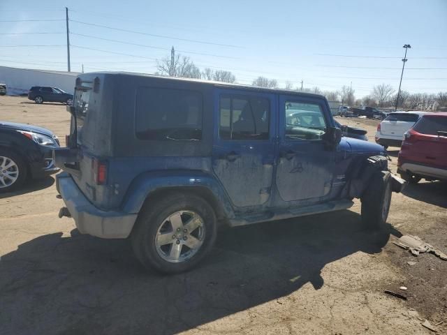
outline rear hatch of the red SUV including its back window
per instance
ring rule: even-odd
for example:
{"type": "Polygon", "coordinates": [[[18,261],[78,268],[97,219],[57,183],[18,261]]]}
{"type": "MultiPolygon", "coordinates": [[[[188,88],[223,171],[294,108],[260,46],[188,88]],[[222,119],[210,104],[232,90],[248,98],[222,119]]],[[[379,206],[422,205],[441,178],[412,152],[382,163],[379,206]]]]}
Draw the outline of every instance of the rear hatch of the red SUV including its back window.
{"type": "Polygon", "coordinates": [[[419,134],[411,143],[411,156],[420,163],[447,169],[447,117],[425,115],[413,127],[419,134]]]}

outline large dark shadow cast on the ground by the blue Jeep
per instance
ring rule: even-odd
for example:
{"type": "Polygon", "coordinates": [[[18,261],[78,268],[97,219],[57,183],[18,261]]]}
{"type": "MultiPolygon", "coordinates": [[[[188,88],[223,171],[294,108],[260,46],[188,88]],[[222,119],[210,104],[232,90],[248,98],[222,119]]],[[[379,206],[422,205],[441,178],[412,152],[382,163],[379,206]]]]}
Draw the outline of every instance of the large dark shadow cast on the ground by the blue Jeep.
{"type": "Polygon", "coordinates": [[[198,268],[174,276],[143,271],[126,240],[47,234],[1,257],[0,333],[177,334],[318,290],[325,265],[380,253],[390,234],[401,236],[362,230],[351,211],[222,230],[198,268]]]}

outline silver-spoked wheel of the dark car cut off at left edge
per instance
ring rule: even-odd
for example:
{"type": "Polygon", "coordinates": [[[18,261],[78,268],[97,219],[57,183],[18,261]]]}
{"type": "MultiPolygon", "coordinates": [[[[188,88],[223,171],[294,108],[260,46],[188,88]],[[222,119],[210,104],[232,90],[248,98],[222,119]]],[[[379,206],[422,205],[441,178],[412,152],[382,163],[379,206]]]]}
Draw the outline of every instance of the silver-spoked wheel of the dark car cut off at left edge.
{"type": "Polygon", "coordinates": [[[21,156],[0,149],[0,193],[13,191],[27,180],[27,165],[21,156]]]}

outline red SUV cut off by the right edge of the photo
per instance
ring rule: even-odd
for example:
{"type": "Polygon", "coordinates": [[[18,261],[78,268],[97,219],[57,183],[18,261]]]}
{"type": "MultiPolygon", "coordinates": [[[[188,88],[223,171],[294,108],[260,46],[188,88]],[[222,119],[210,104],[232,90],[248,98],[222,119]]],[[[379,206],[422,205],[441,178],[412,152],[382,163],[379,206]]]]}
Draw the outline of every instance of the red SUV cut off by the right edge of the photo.
{"type": "Polygon", "coordinates": [[[397,172],[411,184],[447,180],[447,112],[424,114],[404,134],[397,172]]]}

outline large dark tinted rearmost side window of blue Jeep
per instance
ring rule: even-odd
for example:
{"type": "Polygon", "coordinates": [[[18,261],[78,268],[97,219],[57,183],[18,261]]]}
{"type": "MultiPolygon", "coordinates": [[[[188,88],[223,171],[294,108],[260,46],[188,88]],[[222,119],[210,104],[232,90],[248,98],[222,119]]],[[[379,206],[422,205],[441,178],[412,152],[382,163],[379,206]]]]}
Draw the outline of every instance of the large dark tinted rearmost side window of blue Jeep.
{"type": "Polygon", "coordinates": [[[135,135],[139,140],[202,139],[203,97],[198,91],[140,87],[135,135]]]}

